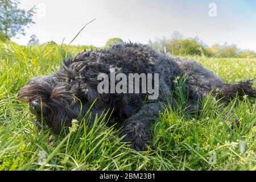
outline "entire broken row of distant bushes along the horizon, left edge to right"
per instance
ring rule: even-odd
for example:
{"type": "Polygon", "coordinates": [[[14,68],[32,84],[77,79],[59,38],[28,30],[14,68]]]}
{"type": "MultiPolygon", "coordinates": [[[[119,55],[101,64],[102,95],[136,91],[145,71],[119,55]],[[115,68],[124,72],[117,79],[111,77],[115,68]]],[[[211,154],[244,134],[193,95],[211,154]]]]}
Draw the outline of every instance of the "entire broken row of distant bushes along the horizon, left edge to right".
{"type": "MultiPolygon", "coordinates": [[[[0,33],[0,42],[10,41],[5,35],[0,33]]],[[[125,44],[120,38],[112,38],[106,42],[102,49],[108,49],[110,46],[116,44],[125,44]]],[[[39,44],[39,40],[35,35],[31,36],[31,40],[28,42],[28,46],[46,46],[57,45],[55,42],[47,42],[39,44]]],[[[177,34],[174,37],[167,39],[156,39],[155,41],[149,40],[148,45],[156,49],[156,51],[170,53],[173,56],[180,55],[199,55],[207,57],[237,57],[237,58],[256,58],[256,52],[250,50],[241,50],[236,45],[220,45],[215,44],[208,47],[199,38],[183,38],[177,34]]],[[[94,46],[84,46],[85,48],[96,49],[94,46]]]]}

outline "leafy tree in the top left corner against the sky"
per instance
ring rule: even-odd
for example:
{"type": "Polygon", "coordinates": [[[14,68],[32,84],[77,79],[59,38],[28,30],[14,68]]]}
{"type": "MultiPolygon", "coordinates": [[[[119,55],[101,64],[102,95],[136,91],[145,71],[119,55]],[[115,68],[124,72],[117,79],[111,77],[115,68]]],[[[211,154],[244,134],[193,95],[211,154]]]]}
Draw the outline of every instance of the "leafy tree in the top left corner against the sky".
{"type": "Polygon", "coordinates": [[[35,23],[32,20],[35,6],[26,11],[19,9],[18,5],[18,0],[0,0],[0,32],[6,38],[26,35],[24,28],[35,23]]]}

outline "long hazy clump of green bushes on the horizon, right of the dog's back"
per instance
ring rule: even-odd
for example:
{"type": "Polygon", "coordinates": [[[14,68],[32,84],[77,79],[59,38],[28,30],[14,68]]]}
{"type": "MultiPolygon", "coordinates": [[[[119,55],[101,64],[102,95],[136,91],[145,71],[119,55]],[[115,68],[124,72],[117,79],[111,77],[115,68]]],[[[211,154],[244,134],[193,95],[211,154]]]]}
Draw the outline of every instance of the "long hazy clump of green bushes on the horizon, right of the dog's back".
{"type": "Polygon", "coordinates": [[[176,32],[172,38],[150,40],[148,45],[160,52],[170,53],[174,56],[179,55],[199,55],[207,57],[239,57],[253,58],[256,52],[250,50],[241,50],[236,45],[220,45],[215,44],[211,47],[207,46],[199,38],[183,38],[176,32]]]}

